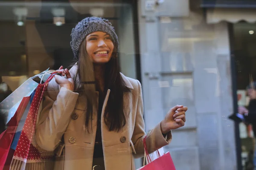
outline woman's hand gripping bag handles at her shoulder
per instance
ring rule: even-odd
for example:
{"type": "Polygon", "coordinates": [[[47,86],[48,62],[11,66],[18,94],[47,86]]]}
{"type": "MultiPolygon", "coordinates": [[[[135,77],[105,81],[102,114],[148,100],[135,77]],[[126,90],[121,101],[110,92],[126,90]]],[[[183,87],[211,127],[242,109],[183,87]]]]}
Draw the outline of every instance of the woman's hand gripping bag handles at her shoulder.
{"type": "Polygon", "coordinates": [[[58,73],[60,73],[62,76],[66,75],[66,77],[67,77],[67,78],[65,78],[65,77],[61,77],[59,75],[55,75],[54,76],[55,81],[58,83],[58,85],[60,85],[61,87],[67,88],[70,91],[74,91],[75,82],[72,79],[68,69],[67,68],[63,69],[63,66],[61,65],[61,67],[56,71],[58,71],[58,73]]]}

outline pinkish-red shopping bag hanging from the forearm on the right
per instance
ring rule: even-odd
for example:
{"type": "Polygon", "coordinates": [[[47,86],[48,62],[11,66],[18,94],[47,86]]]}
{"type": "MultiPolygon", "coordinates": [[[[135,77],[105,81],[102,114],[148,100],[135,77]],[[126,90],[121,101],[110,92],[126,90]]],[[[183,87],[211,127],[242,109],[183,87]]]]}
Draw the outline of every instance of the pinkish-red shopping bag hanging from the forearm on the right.
{"type": "Polygon", "coordinates": [[[172,157],[169,152],[165,153],[163,156],[160,156],[160,153],[158,152],[159,157],[154,161],[151,161],[146,145],[146,136],[143,139],[143,144],[148,164],[145,165],[144,167],[139,168],[138,170],[175,170],[175,166],[173,164],[172,157]]]}

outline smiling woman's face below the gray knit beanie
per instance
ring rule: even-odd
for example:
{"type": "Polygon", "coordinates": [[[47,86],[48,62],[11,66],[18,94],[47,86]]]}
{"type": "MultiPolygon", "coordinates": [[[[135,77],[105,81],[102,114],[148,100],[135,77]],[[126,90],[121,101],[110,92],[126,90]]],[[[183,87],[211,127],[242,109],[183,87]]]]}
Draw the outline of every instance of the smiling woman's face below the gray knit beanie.
{"type": "Polygon", "coordinates": [[[105,32],[93,32],[86,37],[86,51],[95,64],[109,62],[113,48],[111,37],[105,32]]]}

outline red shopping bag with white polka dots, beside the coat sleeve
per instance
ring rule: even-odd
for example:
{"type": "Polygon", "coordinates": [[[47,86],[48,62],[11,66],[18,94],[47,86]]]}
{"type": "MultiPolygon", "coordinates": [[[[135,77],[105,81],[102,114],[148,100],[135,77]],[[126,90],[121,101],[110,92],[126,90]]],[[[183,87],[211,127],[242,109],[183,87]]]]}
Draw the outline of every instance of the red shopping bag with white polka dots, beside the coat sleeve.
{"type": "Polygon", "coordinates": [[[28,165],[28,163],[40,163],[40,166],[37,166],[37,170],[51,169],[54,163],[52,161],[54,159],[54,154],[52,154],[52,152],[42,150],[35,142],[35,127],[38,108],[43,99],[44,91],[46,91],[48,83],[54,75],[55,73],[51,74],[44,84],[40,83],[36,88],[35,96],[26,117],[25,126],[23,126],[12,158],[12,170],[33,169],[34,165],[28,165]]]}

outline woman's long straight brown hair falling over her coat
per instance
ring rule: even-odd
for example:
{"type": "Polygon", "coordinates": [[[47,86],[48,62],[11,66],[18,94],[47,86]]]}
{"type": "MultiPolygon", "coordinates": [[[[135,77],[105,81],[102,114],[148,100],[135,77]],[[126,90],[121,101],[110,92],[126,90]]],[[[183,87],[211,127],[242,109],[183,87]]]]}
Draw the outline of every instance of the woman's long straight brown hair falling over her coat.
{"type": "MultiPolygon", "coordinates": [[[[87,111],[85,115],[85,127],[88,132],[92,129],[93,114],[98,112],[96,81],[93,70],[93,61],[86,51],[86,41],[84,40],[79,49],[79,59],[77,76],[79,83],[87,98],[87,111]],[[96,112],[95,112],[96,111],[96,112]],[[91,125],[91,127],[89,127],[91,125]]],[[[126,125],[125,106],[123,103],[124,92],[130,90],[126,87],[120,74],[116,48],[114,47],[112,57],[105,64],[105,91],[111,90],[108,97],[108,103],[105,108],[104,122],[110,131],[120,131],[126,125]]]]}

